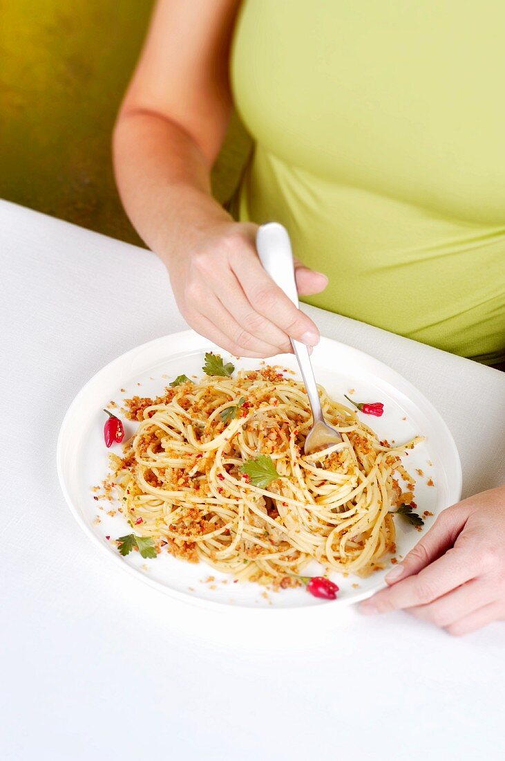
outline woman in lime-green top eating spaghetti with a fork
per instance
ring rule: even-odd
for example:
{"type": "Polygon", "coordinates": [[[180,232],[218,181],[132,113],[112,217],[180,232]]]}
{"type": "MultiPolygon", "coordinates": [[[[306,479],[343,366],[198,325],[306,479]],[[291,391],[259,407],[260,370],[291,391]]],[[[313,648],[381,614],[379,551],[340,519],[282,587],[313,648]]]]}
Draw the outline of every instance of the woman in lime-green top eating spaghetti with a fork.
{"type": "MultiPolygon", "coordinates": [[[[275,219],[311,303],[502,362],[505,6],[239,5],[159,0],[115,127],[125,209],[185,319],[242,356],[317,343],[257,259],[275,219]],[[210,193],[232,100],[255,141],[238,221],[210,193]]],[[[505,618],[505,487],[444,511],[388,583],[364,613],[453,634],[505,618]]]]}

